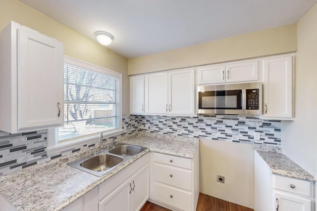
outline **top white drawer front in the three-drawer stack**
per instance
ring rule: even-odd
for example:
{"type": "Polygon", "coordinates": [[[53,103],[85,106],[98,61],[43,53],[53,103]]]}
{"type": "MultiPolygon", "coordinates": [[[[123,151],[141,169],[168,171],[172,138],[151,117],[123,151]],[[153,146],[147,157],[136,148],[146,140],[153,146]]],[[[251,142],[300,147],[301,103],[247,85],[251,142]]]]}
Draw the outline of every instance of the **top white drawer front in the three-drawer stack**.
{"type": "Polygon", "coordinates": [[[192,160],[188,158],[180,158],[171,155],[153,153],[153,161],[184,169],[192,169],[192,160]]]}

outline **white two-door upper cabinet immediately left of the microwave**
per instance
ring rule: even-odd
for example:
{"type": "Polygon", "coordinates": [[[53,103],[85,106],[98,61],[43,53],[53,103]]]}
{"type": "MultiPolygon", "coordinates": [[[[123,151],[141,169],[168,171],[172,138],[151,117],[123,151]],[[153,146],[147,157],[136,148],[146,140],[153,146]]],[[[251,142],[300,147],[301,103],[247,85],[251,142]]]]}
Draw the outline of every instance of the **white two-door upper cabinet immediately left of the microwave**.
{"type": "Polygon", "coordinates": [[[145,75],[145,101],[146,114],[195,115],[195,69],[145,75]]]}

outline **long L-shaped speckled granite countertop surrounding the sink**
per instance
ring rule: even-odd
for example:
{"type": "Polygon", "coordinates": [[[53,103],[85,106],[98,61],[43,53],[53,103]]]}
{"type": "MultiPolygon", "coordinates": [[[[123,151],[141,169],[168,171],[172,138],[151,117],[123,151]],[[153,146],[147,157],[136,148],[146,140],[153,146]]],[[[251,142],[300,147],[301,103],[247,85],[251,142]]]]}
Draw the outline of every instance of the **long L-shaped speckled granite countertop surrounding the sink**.
{"type": "Polygon", "coordinates": [[[117,139],[117,142],[141,145],[149,149],[104,176],[95,176],[66,165],[90,154],[87,149],[0,176],[0,194],[18,211],[60,211],[150,150],[192,158],[199,145],[198,138],[149,135],[141,133],[117,139]]]}

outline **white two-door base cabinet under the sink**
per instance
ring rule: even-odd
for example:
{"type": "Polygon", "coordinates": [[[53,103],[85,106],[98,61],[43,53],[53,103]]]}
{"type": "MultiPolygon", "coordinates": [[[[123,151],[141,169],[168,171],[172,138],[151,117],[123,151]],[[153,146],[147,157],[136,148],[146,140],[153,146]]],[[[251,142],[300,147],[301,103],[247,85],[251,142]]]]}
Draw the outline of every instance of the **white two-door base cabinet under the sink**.
{"type": "Polygon", "coordinates": [[[99,211],[139,211],[150,195],[150,155],[99,185],[99,211]]]}

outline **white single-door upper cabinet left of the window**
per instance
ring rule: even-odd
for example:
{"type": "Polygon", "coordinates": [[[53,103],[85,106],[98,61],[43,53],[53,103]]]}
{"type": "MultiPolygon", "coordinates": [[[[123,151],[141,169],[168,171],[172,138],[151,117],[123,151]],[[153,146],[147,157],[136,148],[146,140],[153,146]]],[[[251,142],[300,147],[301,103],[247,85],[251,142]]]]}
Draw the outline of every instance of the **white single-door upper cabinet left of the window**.
{"type": "Polygon", "coordinates": [[[0,130],[63,126],[63,43],[11,22],[0,32],[0,130]]]}

